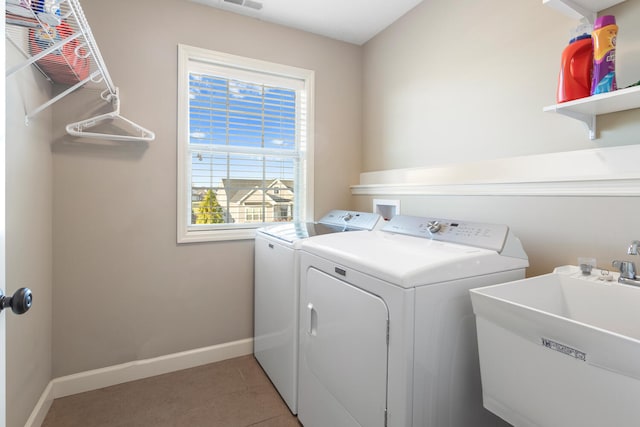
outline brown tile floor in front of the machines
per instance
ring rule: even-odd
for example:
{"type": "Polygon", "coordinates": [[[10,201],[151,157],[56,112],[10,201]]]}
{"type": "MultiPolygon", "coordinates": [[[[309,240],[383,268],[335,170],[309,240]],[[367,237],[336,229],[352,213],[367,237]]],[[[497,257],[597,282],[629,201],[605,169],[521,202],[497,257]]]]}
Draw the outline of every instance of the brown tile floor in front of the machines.
{"type": "Polygon", "coordinates": [[[56,399],[43,427],[299,427],[253,356],[56,399]]]}

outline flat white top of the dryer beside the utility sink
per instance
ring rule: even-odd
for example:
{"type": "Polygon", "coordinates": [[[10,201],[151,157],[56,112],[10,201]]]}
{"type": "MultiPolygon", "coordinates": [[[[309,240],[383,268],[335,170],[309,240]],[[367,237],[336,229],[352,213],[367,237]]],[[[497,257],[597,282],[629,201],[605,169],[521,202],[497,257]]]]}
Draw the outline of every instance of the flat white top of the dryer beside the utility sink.
{"type": "MultiPolygon", "coordinates": [[[[505,239],[516,242],[506,242],[504,247],[519,246],[519,241],[508,229],[505,233],[505,239]]],[[[521,252],[524,256],[505,256],[494,249],[381,230],[318,236],[302,242],[301,249],[403,288],[522,269],[529,265],[524,251],[521,252]]]]}

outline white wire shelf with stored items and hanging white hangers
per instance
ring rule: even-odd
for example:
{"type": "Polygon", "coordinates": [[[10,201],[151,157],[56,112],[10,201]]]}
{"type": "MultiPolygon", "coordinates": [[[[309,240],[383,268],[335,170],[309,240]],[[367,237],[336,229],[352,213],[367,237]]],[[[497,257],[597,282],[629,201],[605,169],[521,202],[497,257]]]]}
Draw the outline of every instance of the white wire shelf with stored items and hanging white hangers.
{"type": "Polygon", "coordinates": [[[115,111],[108,117],[99,116],[100,120],[93,118],[70,124],[67,126],[70,134],[132,141],[155,138],[153,132],[120,116],[118,89],[111,80],[79,0],[7,0],[6,21],[7,40],[24,57],[24,61],[7,68],[6,76],[35,66],[52,83],[68,86],[47,102],[25,112],[26,123],[75,90],[91,87],[98,89],[102,99],[111,102],[115,111]],[[85,132],[105,118],[124,121],[130,125],[133,135],[85,132]]]}

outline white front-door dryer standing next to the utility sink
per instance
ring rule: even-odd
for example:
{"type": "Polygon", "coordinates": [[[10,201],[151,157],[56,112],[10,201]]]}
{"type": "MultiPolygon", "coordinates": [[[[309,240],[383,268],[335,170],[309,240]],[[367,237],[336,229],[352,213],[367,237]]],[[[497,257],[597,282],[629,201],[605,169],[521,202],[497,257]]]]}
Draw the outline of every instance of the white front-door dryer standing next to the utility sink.
{"type": "Polygon", "coordinates": [[[469,289],[524,277],[507,226],[395,216],[300,250],[305,427],[507,426],[482,407],[469,289]]]}

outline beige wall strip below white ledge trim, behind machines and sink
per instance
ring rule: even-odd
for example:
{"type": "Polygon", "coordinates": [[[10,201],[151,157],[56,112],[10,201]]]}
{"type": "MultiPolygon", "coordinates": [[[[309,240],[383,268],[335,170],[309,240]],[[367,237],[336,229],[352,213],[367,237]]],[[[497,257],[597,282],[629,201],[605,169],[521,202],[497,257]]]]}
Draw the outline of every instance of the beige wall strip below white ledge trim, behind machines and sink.
{"type": "MultiPolygon", "coordinates": [[[[355,208],[371,209],[372,197],[355,199],[355,208]]],[[[613,271],[612,260],[633,260],[626,249],[631,240],[640,238],[640,197],[403,196],[399,200],[405,215],[509,225],[529,256],[527,276],[576,265],[578,257],[596,258],[599,266],[613,271]]]]}

